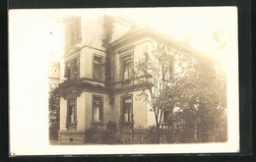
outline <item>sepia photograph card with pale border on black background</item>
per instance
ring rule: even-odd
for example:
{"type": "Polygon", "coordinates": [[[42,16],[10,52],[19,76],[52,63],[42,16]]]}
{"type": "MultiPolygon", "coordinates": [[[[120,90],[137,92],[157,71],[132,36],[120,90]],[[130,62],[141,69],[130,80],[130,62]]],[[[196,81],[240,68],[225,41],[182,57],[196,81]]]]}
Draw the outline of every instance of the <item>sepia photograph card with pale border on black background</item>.
{"type": "Polygon", "coordinates": [[[237,28],[236,7],[10,10],[10,155],[239,152],[237,28]]]}

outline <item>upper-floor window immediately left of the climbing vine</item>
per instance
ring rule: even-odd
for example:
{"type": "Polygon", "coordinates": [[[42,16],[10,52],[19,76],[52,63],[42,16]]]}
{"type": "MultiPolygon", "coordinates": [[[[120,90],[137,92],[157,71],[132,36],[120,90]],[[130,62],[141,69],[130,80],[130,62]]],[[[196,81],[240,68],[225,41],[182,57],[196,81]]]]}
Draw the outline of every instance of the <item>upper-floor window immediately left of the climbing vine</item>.
{"type": "Polygon", "coordinates": [[[94,79],[96,81],[103,80],[103,73],[102,73],[102,58],[95,56],[94,59],[94,79]]]}

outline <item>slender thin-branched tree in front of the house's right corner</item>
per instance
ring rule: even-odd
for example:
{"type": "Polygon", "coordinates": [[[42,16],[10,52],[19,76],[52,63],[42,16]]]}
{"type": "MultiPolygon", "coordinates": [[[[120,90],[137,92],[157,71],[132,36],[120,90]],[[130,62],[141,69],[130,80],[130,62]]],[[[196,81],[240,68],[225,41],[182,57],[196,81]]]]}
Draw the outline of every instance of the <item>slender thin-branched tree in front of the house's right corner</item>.
{"type": "Polygon", "coordinates": [[[165,109],[172,108],[167,98],[162,93],[168,87],[172,78],[174,55],[172,49],[163,43],[158,43],[152,51],[146,50],[144,58],[135,64],[135,77],[144,76],[146,89],[141,90],[138,95],[143,98],[151,106],[151,111],[155,114],[158,139],[160,142],[160,125],[162,114],[165,109]]]}

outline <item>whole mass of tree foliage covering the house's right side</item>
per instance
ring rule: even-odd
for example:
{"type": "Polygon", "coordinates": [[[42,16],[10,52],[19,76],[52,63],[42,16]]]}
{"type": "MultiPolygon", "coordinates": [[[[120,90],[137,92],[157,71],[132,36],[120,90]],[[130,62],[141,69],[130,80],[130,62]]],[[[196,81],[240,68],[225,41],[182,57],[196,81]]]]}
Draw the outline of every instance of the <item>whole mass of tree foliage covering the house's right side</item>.
{"type": "Polygon", "coordinates": [[[218,67],[207,57],[175,52],[161,43],[151,54],[145,52],[135,68],[136,75],[152,75],[146,82],[153,86],[139,94],[155,113],[151,138],[160,142],[164,134],[171,142],[226,140],[225,72],[218,67]],[[164,121],[168,127],[161,131],[166,111],[170,112],[169,121],[164,121]]]}

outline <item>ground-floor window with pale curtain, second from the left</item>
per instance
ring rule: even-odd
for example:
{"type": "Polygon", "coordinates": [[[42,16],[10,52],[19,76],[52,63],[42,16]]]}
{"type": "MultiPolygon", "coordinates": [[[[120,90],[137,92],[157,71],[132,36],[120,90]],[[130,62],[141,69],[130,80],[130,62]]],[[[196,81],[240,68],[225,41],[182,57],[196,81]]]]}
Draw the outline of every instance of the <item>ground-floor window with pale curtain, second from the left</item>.
{"type": "Polygon", "coordinates": [[[103,101],[101,96],[93,96],[93,122],[103,122],[103,101]]]}

